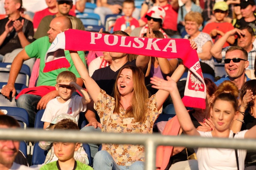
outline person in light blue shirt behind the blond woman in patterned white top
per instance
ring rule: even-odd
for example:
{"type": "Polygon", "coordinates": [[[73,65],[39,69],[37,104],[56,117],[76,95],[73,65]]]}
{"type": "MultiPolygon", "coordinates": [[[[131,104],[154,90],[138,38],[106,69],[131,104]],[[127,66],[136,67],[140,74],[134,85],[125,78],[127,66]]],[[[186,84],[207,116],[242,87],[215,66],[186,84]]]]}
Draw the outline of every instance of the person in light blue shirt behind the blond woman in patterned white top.
{"type": "Polygon", "coordinates": [[[181,7],[179,7],[179,11],[178,11],[178,31],[181,34],[181,37],[183,34],[186,34],[185,31],[185,20],[184,17],[185,15],[190,12],[190,11],[194,11],[194,12],[202,12],[201,7],[197,6],[195,3],[195,0],[182,0],[183,5],[181,7]]]}

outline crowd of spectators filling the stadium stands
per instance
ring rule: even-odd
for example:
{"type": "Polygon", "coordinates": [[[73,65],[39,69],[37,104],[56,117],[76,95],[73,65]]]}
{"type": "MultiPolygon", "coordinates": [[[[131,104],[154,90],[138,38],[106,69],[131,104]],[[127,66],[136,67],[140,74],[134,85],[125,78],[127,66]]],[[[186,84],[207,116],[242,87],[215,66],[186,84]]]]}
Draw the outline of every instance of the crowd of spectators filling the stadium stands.
{"type": "MultiPolygon", "coordinates": [[[[101,29],[99,33],[190,41],[191,48],[197,50],[203,75],[210,75],[211,79],[204,79],[206,109],[192,107],[189,112],[180,100],[186,80],[179,81],[188,69],[178,56],[167,59],[120,52],[66,50],[63,55],[71,66],[44,73],[44,58],[57,34],[71,28],[85,30],[75,12],[83,12],[86,8],[86,0],[45,2],[48,7],[31,16],[27,15],[22,0],[4,0],[5,16],[0,19],[0,62],[11,63],[10,76],[1,94],[7,99],[15,97],[19,71],[22,64],[28,65],[32,73],[30,85],[16,96],[16,103],[28,112],[29,127],[34,127],[36,113],[45,109],[41,121],[46,130],[51,130],[62,119],[77,124],[79,112],[84,112],[88,124],[81,131],[151,134],[159,114],[176,113],[174,118],[162,122],[164,125],[159,132],[164,135],[256,137],[253,132],[256,125],[254,0],[145,0],[141,8],[137,8],[133,0],[96,1],[94,13],[99,14],[103,26],[106,15],[123,15],[111,25],[113,32],[101,29]],[[216,65],[224,67],[223,77],[215,75],[216,65]]],[[[19,127],[13,120],[5,119],[14,125],[4,128],[19,127]]],[[[141,145],[103,144],[102,151],[98,151],[98,144],[89,145],[96,170],[144,168],[145,150],[141,145]]],[[[17,146],[14,143],[13,150],[17,146]]],[[[41,141],[39,146],[49,150],[45,160],[46,164],[51,163],[48,167],[67,165],[75,168],[83,166],[80,162],[89,163],[80,143],[41,141]],[[69,158],[55,154],[62,150],[62,145],[70,146],[69,158]]],[[[157,169],[212,169],[217,163],[217,169],[256,169],[255,151],[238,150],[238,156],[234,150],[226,151],[221,155],[218,149],[165,148],[157,152],[157,169]],[[167,151],[171,154],[159,160],[167,151]],[[215,159],[205,158],[206,154],[215,154],[215,159]],[[228,154],[233,154],[233,158],[225,161],[228,154]]],[[[13,155],[15,157],[17,152],[13,155]]],[[[0,161],[0,169],[2,166],[10,169],[17,164],[13,160],[8,164],[0,161]]],[[[19,168],[24,169],[24,166],[19,168]]],[[[89,166],[84,168],[90,169],[89,166]]]]}

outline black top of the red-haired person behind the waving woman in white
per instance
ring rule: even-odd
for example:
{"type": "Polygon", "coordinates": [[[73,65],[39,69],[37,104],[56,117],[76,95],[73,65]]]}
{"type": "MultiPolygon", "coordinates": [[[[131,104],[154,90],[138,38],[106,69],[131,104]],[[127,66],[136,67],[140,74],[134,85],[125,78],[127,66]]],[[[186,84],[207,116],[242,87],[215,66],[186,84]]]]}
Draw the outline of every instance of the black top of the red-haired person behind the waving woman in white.
{"type": "MultiPolygon", "coordinates": [[[[199,126],[202,126],[196,118],[194,118],[194,116],[192,115],[192,113],[194,113],[194,110],[191,111],[189,113],[190,115],[190,118],[192,120],[192,123],[194,124],[195,128],[199,127],[199,126]]],[[[183,131],[181,134],[184,134],[183,131]]],[[[169,163],[166,167],[166,169],[168,170],[172,164],[175,164],[177,162],[180,162],[180,161],[186,161],[187,160],[187,156],[190,156],[191,154],[193,154],[195,151],[194,151],[194,148],[187,148],[187,152],[186,152],[186,149],[183,149],[180,153],[170,157],[170,160],[169,160],[169,163]]]]}

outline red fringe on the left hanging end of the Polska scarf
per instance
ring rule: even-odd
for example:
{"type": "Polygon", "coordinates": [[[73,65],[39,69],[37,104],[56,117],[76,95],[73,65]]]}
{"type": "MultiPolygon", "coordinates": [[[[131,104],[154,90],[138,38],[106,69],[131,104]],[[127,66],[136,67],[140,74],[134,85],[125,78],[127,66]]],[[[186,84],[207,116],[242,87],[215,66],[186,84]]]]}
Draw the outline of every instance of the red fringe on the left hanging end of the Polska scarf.
{"type": "Polygon", "coordinates": [[[70,64],[66,58],[59,58],[57,60],[48,61],[45,63],[43,73],[47,73],[49,71],[57,70],[60,68],[69,68],[70,64]]]}

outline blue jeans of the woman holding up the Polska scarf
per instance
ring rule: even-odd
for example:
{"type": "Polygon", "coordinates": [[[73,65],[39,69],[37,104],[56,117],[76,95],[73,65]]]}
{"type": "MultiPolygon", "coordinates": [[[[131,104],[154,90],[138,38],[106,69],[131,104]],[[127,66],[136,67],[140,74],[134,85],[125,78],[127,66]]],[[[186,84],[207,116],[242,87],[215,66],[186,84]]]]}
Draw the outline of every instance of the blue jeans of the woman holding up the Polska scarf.
{"type": "Polygon", "coordinates": [[[107,151],[99,151],[94,157],[94,170],[144,170],[144,162],[136,161],[130,166],[119,166],[107,151]]]}

